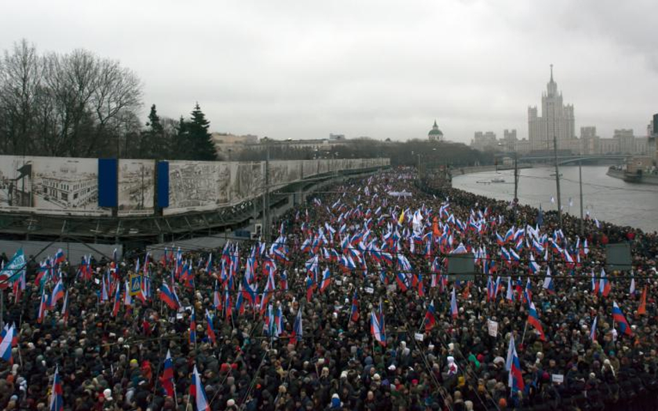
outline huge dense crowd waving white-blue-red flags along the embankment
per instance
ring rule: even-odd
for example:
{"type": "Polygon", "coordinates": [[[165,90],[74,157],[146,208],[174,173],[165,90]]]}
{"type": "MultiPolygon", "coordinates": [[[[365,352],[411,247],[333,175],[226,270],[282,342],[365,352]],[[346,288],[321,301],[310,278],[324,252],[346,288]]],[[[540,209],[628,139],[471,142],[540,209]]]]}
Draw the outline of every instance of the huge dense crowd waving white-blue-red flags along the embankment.
{"type": "Polygon", "coordinates": [[[260,241],[37,256],[3,290],[0,407],[657,409],[657,234],[579,229],[398,168],[316,193],[260,241]],[[605,272],[620,242],[632,270],[605,272]]]}

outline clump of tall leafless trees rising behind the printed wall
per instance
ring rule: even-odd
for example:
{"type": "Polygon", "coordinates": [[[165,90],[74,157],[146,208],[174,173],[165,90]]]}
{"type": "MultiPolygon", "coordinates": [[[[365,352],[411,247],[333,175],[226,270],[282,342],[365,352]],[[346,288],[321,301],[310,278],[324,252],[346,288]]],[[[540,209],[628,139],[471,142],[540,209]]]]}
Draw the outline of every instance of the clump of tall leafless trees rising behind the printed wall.
{"type": "Polygon", "coordinates": [[[40,56],[22,40],[0,59],[0,152],[116,152],[141,98],[140,79],[115,60],[82,49],[40,56]]]}

